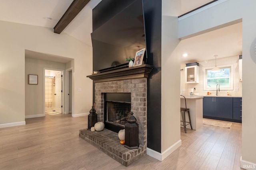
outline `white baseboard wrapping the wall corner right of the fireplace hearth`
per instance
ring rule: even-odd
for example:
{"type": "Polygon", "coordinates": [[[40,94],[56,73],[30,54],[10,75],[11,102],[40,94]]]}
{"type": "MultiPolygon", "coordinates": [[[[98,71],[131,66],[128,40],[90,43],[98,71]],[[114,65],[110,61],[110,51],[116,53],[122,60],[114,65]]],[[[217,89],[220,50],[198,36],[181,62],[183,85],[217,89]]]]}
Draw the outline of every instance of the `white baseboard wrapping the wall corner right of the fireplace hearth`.
{"type": "Polygon", "coordinates": [[[178,147],[181,146],[181,140],[174,143],[172,146],[170,146],[168,149],[166,149],[164,152],[159,153],[155,150],[152,150],[150,148],[147,148],[147,155],[156,158],[157,160],[163,161],[167,156],[169,156],[174,150],[178,149],[178,147]]]}

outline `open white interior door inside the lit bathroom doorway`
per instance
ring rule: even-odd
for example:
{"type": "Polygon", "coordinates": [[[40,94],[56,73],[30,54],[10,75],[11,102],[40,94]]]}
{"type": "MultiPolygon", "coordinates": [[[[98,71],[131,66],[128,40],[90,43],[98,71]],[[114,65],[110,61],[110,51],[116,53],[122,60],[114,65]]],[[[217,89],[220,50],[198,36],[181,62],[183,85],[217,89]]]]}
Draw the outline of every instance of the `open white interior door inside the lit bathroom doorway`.
{"type": "Polygon", "coordinates": [[[55,76],[56,112],[62,113],[62,72],[56,72],[55,76]]]}

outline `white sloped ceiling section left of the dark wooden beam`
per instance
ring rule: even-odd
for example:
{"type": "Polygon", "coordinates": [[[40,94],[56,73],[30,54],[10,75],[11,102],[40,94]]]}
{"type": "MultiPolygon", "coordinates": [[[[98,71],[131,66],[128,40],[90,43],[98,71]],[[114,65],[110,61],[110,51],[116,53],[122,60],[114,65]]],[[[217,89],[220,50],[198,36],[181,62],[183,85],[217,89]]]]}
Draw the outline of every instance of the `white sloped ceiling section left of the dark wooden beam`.
{"type": "Polygon", "coordinates": [[[0,20],[53,28],[73,0],[1,0],[0,20]],[[52,20],[45,20],[46,17],[52,20]]]}

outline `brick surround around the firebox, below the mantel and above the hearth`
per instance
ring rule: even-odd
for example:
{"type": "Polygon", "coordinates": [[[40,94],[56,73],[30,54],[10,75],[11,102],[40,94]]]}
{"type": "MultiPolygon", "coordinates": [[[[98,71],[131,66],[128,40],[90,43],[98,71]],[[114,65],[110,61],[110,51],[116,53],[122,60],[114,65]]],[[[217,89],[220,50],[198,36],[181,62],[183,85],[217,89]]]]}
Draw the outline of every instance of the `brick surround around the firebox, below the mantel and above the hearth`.
{"type": "Polygon", "coordinates": [[[139,125],[139,143],[146,147],[147,141],[147,79],[135,78],[95,83],[95,109],[98,120],[104,121],[104,93],[131,93],[131,111],[139,125]]]}

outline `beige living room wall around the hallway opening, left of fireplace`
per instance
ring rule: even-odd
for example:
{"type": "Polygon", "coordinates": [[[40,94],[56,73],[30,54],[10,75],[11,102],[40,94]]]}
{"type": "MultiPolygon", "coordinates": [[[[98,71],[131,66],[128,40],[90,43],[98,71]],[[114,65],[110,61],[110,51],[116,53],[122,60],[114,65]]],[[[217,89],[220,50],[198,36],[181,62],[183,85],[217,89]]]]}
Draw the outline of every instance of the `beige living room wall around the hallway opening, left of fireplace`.
{"type": "Polygon", "coordinates": [[[25,49],[74,59],[74,113],[92,106],[92,47],[53,29],[0,21],[0,125],[25,120],[25,49]]]}

